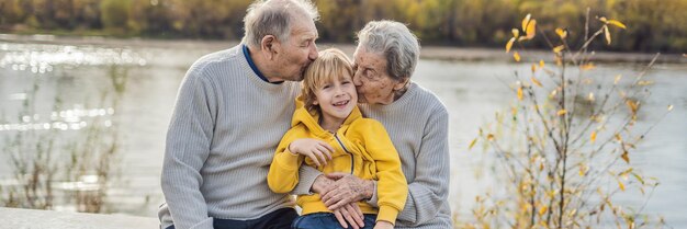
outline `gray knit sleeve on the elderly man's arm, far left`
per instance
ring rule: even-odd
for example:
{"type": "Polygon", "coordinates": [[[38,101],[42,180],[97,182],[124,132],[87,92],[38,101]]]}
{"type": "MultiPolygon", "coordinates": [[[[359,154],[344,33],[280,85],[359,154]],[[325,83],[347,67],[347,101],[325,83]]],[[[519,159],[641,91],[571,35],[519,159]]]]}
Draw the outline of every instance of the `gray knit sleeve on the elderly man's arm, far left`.
{"type": "Polygon", "coordinates": [[[176,228],[213,227],[200,191],[200,171],[210,154],[216,104],[212,84],[189,71],[167,131],[161,174],[162,193],[176,228]]]}

